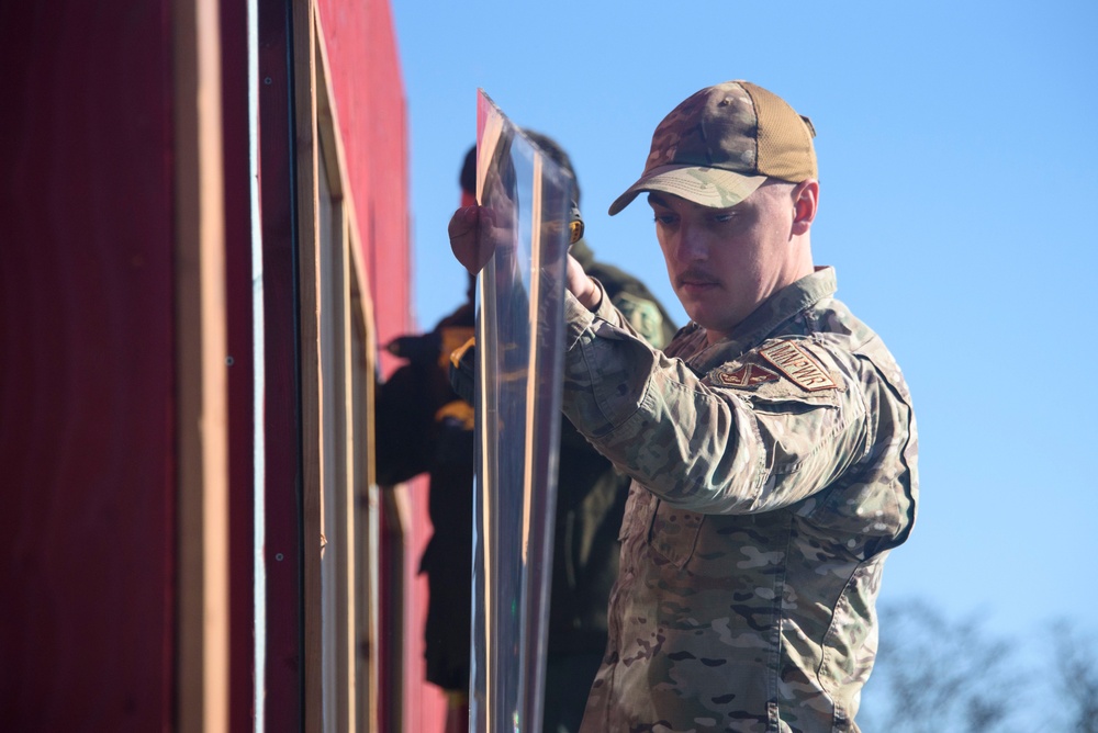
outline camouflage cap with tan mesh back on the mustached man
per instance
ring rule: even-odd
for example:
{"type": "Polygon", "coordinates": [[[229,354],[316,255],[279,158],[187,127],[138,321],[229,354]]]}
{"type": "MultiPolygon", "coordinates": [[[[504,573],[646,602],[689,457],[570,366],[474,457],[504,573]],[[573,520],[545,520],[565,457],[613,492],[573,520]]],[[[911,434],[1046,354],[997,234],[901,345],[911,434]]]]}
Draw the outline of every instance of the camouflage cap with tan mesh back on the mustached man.
{"type": "Polygon", "coordinates": [[[816,131],[785,100],[748,81],[695,92],[652,135],[640,179],[610,204],[613,216],[641,191],[662,191],[703,206],[735,206],[768,178],[817,178],[816,131]]]}

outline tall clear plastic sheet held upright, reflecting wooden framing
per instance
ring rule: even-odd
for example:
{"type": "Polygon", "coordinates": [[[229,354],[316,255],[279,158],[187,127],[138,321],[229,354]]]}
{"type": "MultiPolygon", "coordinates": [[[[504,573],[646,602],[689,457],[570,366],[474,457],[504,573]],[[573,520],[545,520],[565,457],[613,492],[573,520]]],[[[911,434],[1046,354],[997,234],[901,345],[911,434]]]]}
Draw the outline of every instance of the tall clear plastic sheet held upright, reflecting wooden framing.
{"type": "Polygon", "coordinates": [[[477,128],[494,251],[478,280],[470,730],[537,732],[574,184],[483,91],[477,128]]]}

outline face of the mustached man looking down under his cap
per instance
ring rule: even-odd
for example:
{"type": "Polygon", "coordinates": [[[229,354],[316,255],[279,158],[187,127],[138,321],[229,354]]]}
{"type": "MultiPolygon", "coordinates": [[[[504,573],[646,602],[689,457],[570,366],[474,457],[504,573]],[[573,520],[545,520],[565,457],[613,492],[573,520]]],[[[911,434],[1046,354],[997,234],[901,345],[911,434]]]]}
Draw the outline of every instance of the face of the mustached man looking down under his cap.
{"type": "Polygon", "coordinates": [[[800,277],[794,274],[800,253],[793,238],[793,190],[792,183],[768,182],[730,208],[649,193],[671,284],[686,314],[709,331],[710,343],[800,277]]]}

